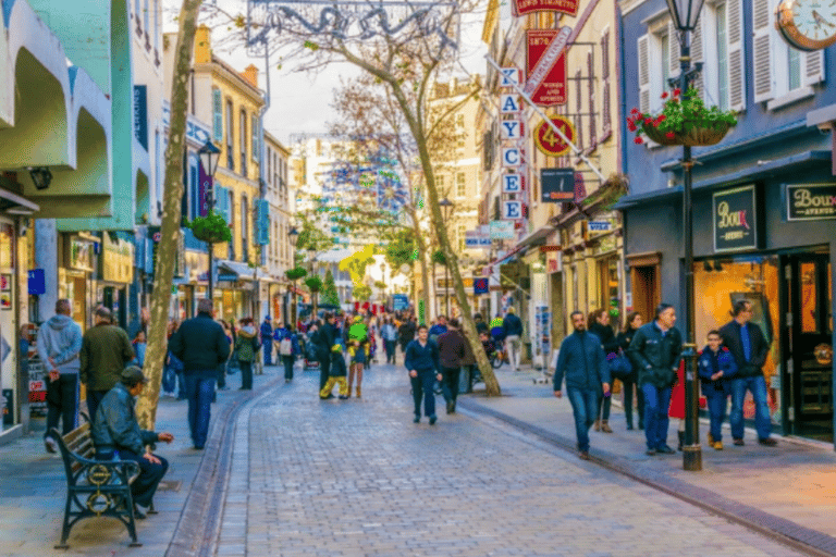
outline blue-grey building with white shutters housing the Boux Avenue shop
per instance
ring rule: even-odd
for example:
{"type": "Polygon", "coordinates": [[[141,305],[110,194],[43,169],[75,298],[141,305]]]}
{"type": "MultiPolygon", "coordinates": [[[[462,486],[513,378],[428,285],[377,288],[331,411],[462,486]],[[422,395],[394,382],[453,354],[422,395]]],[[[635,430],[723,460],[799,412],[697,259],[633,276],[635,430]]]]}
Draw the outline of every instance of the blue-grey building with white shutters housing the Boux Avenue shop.
{"type": "MultiPolygon", "coordinates": [[[[737,110],[717,145],[694,148],[696,341],[749,299],[771,351],[764,372],[784,434],[833,441],[833,261],[836,258],[836,50],[802,52],[775,28],[766,0],[706,2],[692,39],[705,103],[737,110]]],[[[662,108],[678,75],[665,2],[619,2],[622,107],[662,108]]],[[[681,149],[636,145],[622,120],[624,214],[631,307],[648,321],[660,301],[685,330],[681,149]]]]}

